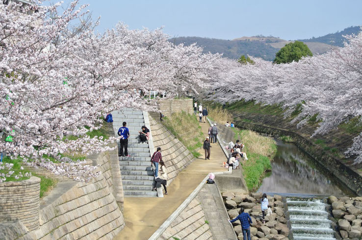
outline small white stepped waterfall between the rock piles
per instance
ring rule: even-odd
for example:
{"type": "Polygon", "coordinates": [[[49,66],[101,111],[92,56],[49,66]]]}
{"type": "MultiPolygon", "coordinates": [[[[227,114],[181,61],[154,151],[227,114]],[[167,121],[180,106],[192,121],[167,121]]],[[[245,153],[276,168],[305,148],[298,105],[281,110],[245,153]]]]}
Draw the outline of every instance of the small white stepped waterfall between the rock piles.
{"type": "Polygon", "coordinates": [[[286,204],[294,240],[336,240],[322,200],[286,198],[286,204]]]}

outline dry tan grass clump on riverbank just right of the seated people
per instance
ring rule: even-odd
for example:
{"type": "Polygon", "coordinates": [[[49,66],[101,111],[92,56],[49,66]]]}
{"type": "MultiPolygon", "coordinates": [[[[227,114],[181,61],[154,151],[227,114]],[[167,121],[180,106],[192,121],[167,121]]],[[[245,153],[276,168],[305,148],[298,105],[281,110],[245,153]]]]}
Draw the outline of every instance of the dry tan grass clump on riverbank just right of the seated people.
{"type": "Polygon", "coordinates": [[[235,128],[235,137],[245,145],[246,153],[256,153],[269,158],[274,157],[277,152],[277,145],[274,139],[261,136],[251,130],[238,130],[235,128]]]}

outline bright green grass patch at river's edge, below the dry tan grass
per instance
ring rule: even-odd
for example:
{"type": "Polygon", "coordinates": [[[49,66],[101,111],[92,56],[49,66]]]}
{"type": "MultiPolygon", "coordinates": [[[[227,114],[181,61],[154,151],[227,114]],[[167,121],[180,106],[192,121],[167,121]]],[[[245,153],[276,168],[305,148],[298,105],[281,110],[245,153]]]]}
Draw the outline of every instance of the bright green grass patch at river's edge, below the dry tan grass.
{"type": "Polygon", "coordinates": [[[248,158],[249,160],[242,165],[244,179],[249,191],[255,192],[258,190],[266,172],[271,170],[270,159],[256,153],[249,153],[248,158]]]}

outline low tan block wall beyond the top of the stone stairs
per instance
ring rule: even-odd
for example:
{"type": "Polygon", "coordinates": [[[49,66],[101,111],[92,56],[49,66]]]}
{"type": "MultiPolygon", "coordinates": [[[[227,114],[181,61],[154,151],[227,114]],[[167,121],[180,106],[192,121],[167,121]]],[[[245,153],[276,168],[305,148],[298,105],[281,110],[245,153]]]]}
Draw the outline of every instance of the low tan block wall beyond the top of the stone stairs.
{"type": "MultiPolygon", "coordinates": [[[[171,116],[173,113],[179,113],[184,111],[189,114],[193,114],[194,110],[192,107],[192,99],[167,99],[167,100],[158,100],[158,110],[165,116],[171,116]]],[[[150,115],[155,119],[159,120],[158,112],[150,112],[150,115]]]]}

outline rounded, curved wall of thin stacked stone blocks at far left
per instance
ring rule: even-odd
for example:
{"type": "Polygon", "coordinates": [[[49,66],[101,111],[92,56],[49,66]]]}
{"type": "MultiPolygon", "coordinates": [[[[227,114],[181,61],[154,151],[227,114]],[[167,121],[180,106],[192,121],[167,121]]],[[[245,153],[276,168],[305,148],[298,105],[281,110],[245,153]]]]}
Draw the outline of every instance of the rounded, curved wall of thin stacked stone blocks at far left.
{"type": "Polygon", "coordinates": [[[0,183],[0,225],[21,220],[28,230],[39,227],[40,178],[0,183]]]}

